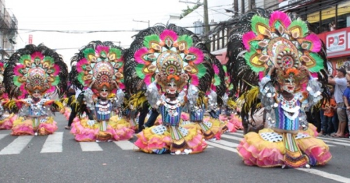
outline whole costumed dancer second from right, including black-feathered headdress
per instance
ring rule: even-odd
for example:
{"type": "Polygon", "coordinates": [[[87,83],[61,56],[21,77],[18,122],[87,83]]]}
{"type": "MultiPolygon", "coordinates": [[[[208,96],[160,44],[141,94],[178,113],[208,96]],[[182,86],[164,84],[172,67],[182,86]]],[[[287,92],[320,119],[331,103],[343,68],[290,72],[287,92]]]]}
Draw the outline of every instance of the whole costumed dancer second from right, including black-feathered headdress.
{"type": "Polygon", "coordinates": [[[194,106],[198,94],[210,87],[212,60],[204,44],[186,29],[158,25],[136,35],[125,60],[127,91],[145,91],[161,115],[161,124],[138,133],[135,145],[147,153],[202,152],[207,147],[203,135],[180,124],[183,108],[194,106]]]}

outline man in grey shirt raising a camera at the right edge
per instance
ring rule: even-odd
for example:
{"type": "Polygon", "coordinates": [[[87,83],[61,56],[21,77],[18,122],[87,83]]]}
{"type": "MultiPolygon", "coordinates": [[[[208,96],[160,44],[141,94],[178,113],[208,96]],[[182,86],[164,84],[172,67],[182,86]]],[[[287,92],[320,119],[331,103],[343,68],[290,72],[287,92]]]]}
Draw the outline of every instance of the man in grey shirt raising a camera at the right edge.
{"type": "Polygon", "coordinates": [[[338,131],[332,136],[344,137],[346,127],[346,106],[344,105],[343,93],[347,88],[347,80],[345,78],[347,71],[344,67],[337,68],[337,75],[333,78],[328,78],[328,83],[335,85],[334,87],[334,99],[337,107],[337,114],[339,119],[338,131]]]}

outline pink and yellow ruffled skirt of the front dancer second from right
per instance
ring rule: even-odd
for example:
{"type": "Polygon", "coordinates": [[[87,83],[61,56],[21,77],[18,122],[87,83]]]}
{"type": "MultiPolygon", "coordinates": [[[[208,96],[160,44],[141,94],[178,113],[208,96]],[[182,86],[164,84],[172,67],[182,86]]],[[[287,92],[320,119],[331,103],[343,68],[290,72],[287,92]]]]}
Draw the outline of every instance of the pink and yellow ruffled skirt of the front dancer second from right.
{"type": "Polygon", "coordinates": [[[137,137],[134,144],[146,153],[193,154],[207,148],[203,135],[194,128],[166,127],[160,124],[144,129],[137,137]]]}

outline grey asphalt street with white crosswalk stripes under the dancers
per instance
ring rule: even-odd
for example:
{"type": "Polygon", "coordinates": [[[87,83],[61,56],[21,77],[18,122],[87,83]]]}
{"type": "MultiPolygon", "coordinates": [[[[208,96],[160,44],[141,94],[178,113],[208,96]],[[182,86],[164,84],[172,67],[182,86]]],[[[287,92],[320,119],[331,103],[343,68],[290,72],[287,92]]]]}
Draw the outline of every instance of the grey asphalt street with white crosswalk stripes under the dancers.
{"type": "Polygon", "coordinates": [[[0,183],[350,183],[350,139],[321,139],[333,159],[311,169],[245,166],[236,153],[242,131],[209,141],[203,153],[157,155],[137,151],[136,137],[120,142],[76,142],[64,130],[48,136],[11,136],[0,131],[0,183]]]}

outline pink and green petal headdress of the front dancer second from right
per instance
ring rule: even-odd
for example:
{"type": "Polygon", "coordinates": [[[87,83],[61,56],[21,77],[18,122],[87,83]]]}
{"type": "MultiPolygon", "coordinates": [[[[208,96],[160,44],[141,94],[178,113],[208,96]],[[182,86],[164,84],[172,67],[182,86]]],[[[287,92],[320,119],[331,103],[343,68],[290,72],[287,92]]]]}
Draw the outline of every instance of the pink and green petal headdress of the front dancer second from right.
{"type": "MultiPolygon", "coordinates": [[[[135,52],[137,75],[148,85],[155,73],[162,72],[168,81],[180,81],[181,73],[191,77],[191,83],[198,85],[198,79],[204,76],[206,68],[202,64],[204,54],[192,47],[191,36],[177,35],[166,29],[159,35],[144,37],[143,46],[135,52]]],[[[162,80],[165,82],[165,80],[162,80]]],[[[160,84],[162,84],[161,82],[160,84]]]]}

